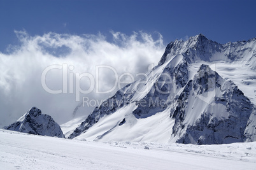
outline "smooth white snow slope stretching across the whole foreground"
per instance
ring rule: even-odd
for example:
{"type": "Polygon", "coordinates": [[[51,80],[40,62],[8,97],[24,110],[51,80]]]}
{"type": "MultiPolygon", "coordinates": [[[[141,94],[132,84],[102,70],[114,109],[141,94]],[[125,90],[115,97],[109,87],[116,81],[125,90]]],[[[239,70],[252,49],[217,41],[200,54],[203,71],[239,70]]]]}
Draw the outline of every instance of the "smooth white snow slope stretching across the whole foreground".
{"type": "Polygon", "coordinates": [[[96,143],[1,129],[0,158],[0,169],[255,169],[256,142],[96,143]]]}

